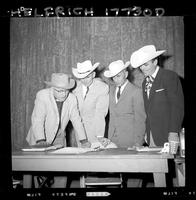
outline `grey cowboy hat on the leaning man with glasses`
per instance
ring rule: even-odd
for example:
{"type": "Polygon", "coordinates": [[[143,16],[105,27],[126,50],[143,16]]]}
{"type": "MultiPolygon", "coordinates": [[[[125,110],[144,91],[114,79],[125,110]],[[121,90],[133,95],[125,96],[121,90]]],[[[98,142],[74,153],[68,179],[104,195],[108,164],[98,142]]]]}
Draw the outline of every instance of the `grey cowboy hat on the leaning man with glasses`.
{"type": "Polygon", "coordinates": [[[75,80],[71,79],[68,74],[53,73],[51,75],[51,82],[45,81],[45,83],[52,87],[71,89],[75,85],[75,80]]]}

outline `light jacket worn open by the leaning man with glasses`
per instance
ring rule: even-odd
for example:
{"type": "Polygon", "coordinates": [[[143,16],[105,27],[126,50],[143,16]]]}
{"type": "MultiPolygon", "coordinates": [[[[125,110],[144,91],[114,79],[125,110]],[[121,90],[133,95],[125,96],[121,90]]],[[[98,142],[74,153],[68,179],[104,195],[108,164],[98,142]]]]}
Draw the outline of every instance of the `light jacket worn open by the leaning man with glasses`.
{"type": "MultiPolygon", "coordinates": [[[[84,127],[79,115],[76,97],[69,93],[64,101],[61,112],[61,133],[66,136],[65,128],[71,120],[79,140],[86,139],[84,127]]],[[[40,90],[35,99],[35,106],[31,117],[31,127],[27,135],[30,145],[37,140],[46,139],[51,143],[56,135],[59,125],[59,112],[55,102],[52,88],[40,90]]],[[[65,137],[64,137],[65,138],[65,137]]]]}

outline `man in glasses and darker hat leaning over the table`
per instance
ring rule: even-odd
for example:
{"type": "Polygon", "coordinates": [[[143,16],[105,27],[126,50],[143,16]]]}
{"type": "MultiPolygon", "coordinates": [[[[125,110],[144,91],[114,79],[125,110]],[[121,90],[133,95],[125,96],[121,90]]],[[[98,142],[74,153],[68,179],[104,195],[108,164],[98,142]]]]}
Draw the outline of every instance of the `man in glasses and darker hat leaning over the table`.
{"type": "MultiPolygon", "coordinates": [[[[69,74],[53,73],[48,88],[37,92],[31,117],[31,127],[26,137],[29,145],[66,146],[66,126],[72,122],[81,147],[90,147],[77,108],[75,95],[70,92],[75,81],[69,74]]],[[[54,187],[66,186],[66,177],[55,177],[54,187]]]]}

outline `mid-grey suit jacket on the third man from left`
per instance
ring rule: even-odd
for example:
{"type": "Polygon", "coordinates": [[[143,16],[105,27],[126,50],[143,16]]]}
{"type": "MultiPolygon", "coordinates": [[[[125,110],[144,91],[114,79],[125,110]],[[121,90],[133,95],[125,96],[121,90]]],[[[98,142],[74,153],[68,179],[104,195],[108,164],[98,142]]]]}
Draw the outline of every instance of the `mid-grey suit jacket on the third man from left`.
{"type": "Polygon", "coordinates": [[[146,129],[142,90],[128,81],[116,103],[115,89],[110,87],[109,139],[118,147],[142,145],[146,129]]]}

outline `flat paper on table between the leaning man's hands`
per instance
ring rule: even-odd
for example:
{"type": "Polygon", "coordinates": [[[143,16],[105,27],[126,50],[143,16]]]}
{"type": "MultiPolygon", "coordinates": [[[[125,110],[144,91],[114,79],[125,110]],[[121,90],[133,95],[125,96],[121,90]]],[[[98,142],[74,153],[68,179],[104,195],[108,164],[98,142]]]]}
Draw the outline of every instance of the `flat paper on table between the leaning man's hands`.
{"type": "Polygon", "coordinates": [[[86,153],[89,151],[96,151],[96,149],[93,148],[81,148],[81,147],[64,147],[61,149],[58,149],[56,151],[52,151],[51,153],[56,154],[80,154],[80,153],[86,153]]]}

